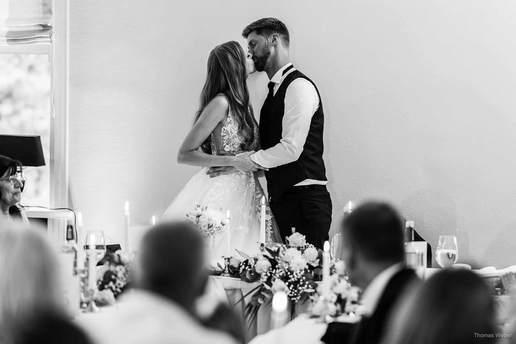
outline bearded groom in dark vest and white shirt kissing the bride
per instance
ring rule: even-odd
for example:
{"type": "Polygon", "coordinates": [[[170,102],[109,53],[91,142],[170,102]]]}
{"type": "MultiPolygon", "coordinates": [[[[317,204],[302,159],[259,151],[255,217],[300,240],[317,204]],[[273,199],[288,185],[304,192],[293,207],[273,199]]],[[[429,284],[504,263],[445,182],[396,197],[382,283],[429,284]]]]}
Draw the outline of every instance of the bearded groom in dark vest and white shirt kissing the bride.
{"type": "Polygon", "coordinates": [[[328,240],[332,204],[322,160],[324,112],[317,87],[294,68],[285,24],[263,18],[246,26],[248,53],[270,79],[260,112],[262,150],[240,159],[265,168],[269,203],[282,238],[292,227],[322,249],[328,240]]]}

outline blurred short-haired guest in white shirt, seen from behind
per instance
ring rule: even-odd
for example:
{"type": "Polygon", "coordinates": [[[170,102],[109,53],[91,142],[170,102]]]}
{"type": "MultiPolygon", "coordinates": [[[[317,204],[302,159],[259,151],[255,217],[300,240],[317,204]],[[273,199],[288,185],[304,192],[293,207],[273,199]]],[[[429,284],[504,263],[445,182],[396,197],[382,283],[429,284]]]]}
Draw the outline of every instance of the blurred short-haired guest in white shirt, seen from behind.
{"type": "Polygon", "coordinates": [[[134,285],[106,319],[106,344],[235,343],[204,327],[195,312],[206,281],[201,234],[185,222],[161,223],[142,238],[134,285]]]}

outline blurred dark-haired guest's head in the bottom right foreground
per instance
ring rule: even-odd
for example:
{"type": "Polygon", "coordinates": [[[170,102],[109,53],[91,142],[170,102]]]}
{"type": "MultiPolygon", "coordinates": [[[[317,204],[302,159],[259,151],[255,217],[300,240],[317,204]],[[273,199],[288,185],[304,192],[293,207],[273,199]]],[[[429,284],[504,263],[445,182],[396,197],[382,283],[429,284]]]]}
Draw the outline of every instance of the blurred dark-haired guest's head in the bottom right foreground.
{"type": "Polygon", "coordinates": [[[399,305],[383,343],[494,343],[493,306],[487,286],[474,272],[445,269],[399,305]]]}

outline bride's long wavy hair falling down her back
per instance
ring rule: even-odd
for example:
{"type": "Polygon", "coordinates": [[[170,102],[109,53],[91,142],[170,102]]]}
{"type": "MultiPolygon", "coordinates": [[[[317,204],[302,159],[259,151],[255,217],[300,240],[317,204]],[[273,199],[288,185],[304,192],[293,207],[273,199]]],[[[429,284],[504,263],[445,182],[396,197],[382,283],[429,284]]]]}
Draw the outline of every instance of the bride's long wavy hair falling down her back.
{"type": "MultiPolygon", "coordinates": [[[[247,68],[244,49],[238,42],[230,41],[217,45],[208,57],[208,71],[202,88],[197,122],[208,103],[219,93],[228,97],[233,116],[238,125],[238,136],[242,143],[240,149],[250,150],[254,140],[254,119],[247,110],[249,91],[247,89],[247,68]]],[[[204,153],[212,154],[209,137],[201,145],[204,153]]]]}

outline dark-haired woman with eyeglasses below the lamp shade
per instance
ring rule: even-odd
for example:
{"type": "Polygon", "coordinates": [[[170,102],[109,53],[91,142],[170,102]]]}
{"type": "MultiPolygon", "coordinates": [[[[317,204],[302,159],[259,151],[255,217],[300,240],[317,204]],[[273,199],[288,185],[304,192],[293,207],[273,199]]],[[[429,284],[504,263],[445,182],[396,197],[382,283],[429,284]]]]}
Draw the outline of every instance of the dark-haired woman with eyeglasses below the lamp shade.
{"type": "Polygon", "coordinates": [[[22,200],[22,164],[0,155],[0,228],[29,225],[23,209],[17,204],[22,200]]]}

